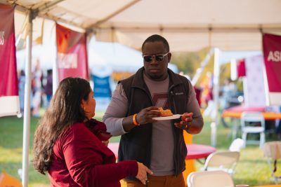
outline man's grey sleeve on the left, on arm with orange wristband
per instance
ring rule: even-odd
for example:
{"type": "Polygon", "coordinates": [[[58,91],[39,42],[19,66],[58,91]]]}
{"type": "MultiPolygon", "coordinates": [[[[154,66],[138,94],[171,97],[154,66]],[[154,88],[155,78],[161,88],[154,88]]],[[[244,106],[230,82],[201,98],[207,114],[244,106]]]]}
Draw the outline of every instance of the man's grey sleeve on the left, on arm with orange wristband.
{"type": "Polygon", "coordinates": [[[122,84],[119,83],[112,94],[110,104],[107,106],[105,115],[103,116],[103,123],[106,125],[107,132],[110,132],[113,136],[126,133],[122,123],[127,110],[128,99],[122,84]]]}

